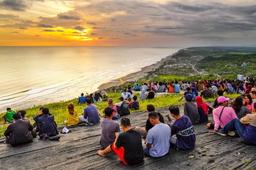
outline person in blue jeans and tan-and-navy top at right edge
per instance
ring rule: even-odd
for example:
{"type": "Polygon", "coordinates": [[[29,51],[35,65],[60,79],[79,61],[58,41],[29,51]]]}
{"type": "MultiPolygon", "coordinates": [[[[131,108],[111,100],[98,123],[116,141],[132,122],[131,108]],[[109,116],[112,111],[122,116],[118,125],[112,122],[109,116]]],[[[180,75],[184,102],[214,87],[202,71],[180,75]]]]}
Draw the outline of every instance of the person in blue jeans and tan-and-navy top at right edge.
{"type": "MultiPolygon", "coordinates": [[[[254,103],[256,109],[256,103],[254,103]]],[[[222,129],[216,131],[217,134],[227,136],[230,133],[236,133],[237,136],[248,145],[256,145],[256,113],[247,114],[239,119],[233,119],[226,124],[222,129]],[[244,124],[248,124],[247,127],[244,124]],[[235,132],[232,132],[235,131],[235,132]]]]}

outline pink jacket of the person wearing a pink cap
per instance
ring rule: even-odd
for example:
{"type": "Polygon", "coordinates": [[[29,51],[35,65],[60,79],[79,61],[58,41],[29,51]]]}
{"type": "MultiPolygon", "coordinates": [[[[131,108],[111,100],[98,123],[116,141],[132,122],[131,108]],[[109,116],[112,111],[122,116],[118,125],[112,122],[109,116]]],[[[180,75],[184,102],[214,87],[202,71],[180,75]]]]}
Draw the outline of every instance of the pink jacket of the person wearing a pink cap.
{"type": "Polygon", "coordinates": [[[219,125],[221,127],[224,127],[226,126],[226,124],[228,124],[231,120],[237,118],[237,114],[235,112],[235,110],[231,107],[225,107],[223,112],[222,112],[222,115],[220,117],[220,112],[221,110],[223,109],[224,106],[219,106],[218,108],[214,109],[212,111],[212,114],[213,114],[213,119],[214,119],[214,122],[215,122],[215,125],[214,125],[214,130],[218,130],[218,127],[219,125]],[[220,117],[220,120],[219,120],[219,117],[220,117]]]}

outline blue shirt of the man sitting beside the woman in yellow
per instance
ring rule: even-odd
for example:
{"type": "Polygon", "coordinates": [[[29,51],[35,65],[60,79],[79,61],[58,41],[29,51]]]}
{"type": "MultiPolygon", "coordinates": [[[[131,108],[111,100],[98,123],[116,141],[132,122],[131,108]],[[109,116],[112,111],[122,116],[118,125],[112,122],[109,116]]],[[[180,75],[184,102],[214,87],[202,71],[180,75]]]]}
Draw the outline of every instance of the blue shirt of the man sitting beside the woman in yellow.
{"type": "Polygon", "coordinates": [[[88,122],[90,122],[90,123],[99,122],[100,116],[99,116],[97,106],[94,104],[90,104],[89,106],[84,108],[83,117],[84,117],[84,119],[87,119],[87,117],[88,117],[88,122]]]}

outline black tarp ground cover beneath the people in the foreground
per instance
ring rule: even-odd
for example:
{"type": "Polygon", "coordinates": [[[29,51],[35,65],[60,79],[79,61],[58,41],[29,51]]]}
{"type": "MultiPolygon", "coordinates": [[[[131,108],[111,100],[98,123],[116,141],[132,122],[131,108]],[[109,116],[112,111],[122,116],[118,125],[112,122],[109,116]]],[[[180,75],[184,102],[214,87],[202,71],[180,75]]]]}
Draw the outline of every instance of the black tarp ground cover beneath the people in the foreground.
{"type": "MultiPolygon", "coordinates": [[[[179,108],[183,115],[183,106],[179,108]]],[[[164,117],[169,114],[168,107],[156,111],[164,117]]],[[[147,112],[136,112],[127,117],[132,128],[145,126],[147,112]]],[[[213,122],[212,114],[210,121],[213,122]]],[[[194,125],[195,148],[179,151],[170,148],[165,156],[146,156],[142,163],[134,166],[124,165],[114,152],[105,157],[97,155],[97,150],[102,149],[99,145],[100,124],[69,127],[72,132],[60,134],[59,141],[40,141],[37,137],[33,143],[22,147],[5,145],[4,139],[0,139],[1,169],[256,169],[256,146],[246,145],[240,138],[208,134],[207,123],[194,125]],[[188,158],[188,155],[195,157],[188,158]],[[250,162],[244,164],[245,159],[250,162]]]]}

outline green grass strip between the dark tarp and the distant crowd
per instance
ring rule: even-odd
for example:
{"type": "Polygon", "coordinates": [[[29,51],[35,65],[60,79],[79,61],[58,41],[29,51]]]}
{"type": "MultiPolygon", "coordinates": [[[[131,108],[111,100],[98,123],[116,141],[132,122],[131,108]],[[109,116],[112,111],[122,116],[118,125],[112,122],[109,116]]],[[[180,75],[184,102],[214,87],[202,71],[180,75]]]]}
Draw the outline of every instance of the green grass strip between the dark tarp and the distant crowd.
{"type": "MultiPolygon", "coordinates": [[[[140,96],[139,93],[134,93],[134,95],[136,95],[137,97],[140,96]]],[[[131,113],[146,110],[147,104],[153,104],[156,108],[183,104],[184,101],[178,101],[178,99],[180,98],[181,95],[182,94],[171,94],[171,95],[155,97],[154,99],[151,99],[151,100],[148,100],[148,99],[142,100],[142,101],[140,101],[140,109],[139,110],[131,110],[131,113]]],[[[121,94],[120,93],[109,93],[108,96],[113,99],[114,103],[117,103],[117,102],[119,102],[118,98],[121,96],[121,94]]],[[[239,94],[232,94],[232,95],[225,95],[225,96],[227,96],[229,98],[236,98],[237,96],[239,96],[239,94]]],[[[207,99],[204,101],[210,101],[210,100],[214,100],[214,98],[207,99]]],[[[82,110],[86,107],[86,104],[81,104],[81,105],[78,104],[77,99],[73,99],[73,100],[69,100],[69,101],[65,101],[65,102],[61,102],[61,103],[50,103],[50,104],[44,105],[44,107],[49,108],[50,113],[53,114],[55,117],[55,121],[56,121],[57,125],[65,125],[64,121],[67,119],[66,109],[67,109],[68,103],[70,103],[70,102],[73,102],[75,104],[74,108],[77,109],[78,116],[82,115],[82,110]]],[[[100,103],[96,103],[95,105],[97,106],[99,113],[101,114],[101,117],[102,117],[103,116],[102,111],[106,108],[106,106],[108,105],[108,102],[103,101],[100,103]]],[[[33,108],[28,108],[28,109],[24,108],[27,111],[26,117],[30,120],[31,124],[34,123],[33,116],[35,116],[39,113],[40,107],[42,107],[42,106],[37,106],[37,107],[33,107],[33,108]]],[[[22,108],[20,108],[20,109],[22,109],[22,108]]],[[[4,122],[4,119],[0,119],[0,122],[4,122]]],[[[6,130],[7,126],[8,126],[8,124],[0,125],[0,136],[4,135],[4,131],[6,130]]]]}

